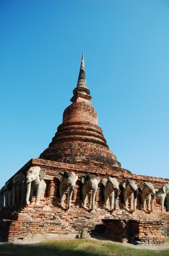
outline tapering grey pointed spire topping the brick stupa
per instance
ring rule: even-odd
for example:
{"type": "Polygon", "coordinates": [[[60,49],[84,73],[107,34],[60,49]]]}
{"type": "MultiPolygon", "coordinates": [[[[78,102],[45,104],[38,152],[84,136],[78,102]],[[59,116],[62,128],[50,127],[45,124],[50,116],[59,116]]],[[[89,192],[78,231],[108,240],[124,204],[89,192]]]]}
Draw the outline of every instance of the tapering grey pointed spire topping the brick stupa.
{"type": "Polygon", "coordinates": [[[82,61],[80,65],[80,72],[78,75],[78,82],[76,88],[73,90],[73,94],[80,92],[81,94],[90,94],[89,89],[87,88],[87,81],[84,70],[84,52],[82,52],[82,61]]]}

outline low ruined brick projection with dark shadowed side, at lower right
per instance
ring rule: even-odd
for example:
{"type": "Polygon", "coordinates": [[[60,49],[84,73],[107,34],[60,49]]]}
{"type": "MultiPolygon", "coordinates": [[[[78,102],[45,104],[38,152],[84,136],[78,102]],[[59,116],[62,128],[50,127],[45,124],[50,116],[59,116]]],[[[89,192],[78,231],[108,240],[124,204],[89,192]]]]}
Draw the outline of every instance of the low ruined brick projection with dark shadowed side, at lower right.
{"type": "Polygon", "coordinates": [[[134,244],[164,244],[166,233],[164,227],[168,228],[168,222],[164,222],[164,218],[169,220],[169,215],[163,213],[161,219],[156,220],[103,220],[105,226],[104,235],[113,241],[129,241],[134,244]]]}

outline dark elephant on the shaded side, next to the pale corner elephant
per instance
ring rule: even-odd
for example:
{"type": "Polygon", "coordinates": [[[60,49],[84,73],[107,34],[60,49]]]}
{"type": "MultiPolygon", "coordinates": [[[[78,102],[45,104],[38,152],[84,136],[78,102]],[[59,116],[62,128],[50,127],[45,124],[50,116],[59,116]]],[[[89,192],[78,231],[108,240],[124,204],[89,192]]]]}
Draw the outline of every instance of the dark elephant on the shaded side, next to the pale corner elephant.
{"type": "Polygon", "coordinates": [[[12,205],[19,206],[25,203],[25,174],[20,172],[12,179],[12,205]]]}

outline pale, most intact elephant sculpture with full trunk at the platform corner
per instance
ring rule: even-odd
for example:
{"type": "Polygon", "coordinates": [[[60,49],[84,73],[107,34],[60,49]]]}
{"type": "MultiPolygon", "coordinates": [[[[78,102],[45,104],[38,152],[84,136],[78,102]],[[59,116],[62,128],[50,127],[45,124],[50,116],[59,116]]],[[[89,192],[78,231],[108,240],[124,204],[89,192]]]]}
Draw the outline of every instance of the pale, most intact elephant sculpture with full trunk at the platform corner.
{"type": "Polygon", "coordinates": [[[44,181],[45,170],[42,170],[39,166],[31,167],[26,172],[26,204],[30,204],[30,199],[33,195],[36,195],[36,205],[40,203],[41,194],[46,190],[46,182],[44,181]]]}

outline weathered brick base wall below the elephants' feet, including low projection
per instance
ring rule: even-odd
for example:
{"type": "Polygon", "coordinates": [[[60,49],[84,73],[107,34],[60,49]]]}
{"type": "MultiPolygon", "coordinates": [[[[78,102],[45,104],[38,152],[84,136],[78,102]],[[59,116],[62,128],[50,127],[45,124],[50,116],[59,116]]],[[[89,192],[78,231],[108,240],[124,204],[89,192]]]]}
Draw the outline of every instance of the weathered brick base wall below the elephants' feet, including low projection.
{"type": "Polygon", "coordinates": [[[4,210],[6,216],[13,216],[13,220],[0,220],[3,230],[1,238],[4,241],[75,238],[83,228],[91,231],[100,227],[103,231],[102,224],[106,224],[108,229],[104,235],[115,241],[160,244],[164,243],[166,230],[169,228],[169,213],[160,210],[156,210],[154,214],[146,214],[140,210],[133,214],[118,210],[111,214],[108,210],[97,209],[91,212],[79,206],[64,210],[60,207],[59,200],[52,197],[41,201],[40,206],[34,206],[34,200],[35,198],[32,199],[32,205],[23,207],[18,212],[4,210]],[[107,224],[107,220],[115,223],[107,224]]]}

